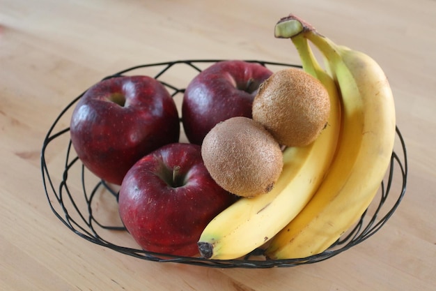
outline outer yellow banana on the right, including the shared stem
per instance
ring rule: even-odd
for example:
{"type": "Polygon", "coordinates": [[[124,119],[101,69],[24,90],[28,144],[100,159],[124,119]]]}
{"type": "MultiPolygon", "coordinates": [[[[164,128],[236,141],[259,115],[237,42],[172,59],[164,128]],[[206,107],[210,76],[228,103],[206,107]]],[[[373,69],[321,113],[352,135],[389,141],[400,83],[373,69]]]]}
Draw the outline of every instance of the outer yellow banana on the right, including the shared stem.
{"type": "Polygon", "coordinates": [[[382,68],[368,55],[336,45],[294,15],[280,20],[276,33],[281,38],[308,38],[318,47],[342,100],[341,137],[327,176],[265,251],[270,259],[306,258],[334,244],[377,193],[394,147],[394,98],[382,68]]]}

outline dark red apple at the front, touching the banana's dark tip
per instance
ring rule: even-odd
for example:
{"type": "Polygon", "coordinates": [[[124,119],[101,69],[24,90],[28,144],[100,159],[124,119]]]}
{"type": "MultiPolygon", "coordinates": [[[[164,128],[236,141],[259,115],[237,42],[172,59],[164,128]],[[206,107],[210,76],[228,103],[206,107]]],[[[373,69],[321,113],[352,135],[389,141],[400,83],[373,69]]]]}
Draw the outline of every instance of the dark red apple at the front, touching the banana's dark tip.
{"type": "Polygon", "coordinates": [[[144,250],[192,256],[205,225],[236,198],[210,177],[200,146],[175,143],[133,165],[118,205],[125,227],[144,250]]]}

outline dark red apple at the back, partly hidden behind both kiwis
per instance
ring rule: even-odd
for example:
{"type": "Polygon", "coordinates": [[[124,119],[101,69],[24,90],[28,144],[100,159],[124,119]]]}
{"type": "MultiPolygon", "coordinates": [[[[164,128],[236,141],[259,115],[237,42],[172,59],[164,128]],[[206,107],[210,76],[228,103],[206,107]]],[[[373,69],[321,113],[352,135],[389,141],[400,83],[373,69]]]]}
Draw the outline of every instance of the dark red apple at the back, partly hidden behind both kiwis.
{"type": "Polygon", "coordinates": [[[231,117],[251,118],[260,84],[272,72],[247,61],[219,61],[196,75],[182,101],[182,123],[189,142],[201,144],[215,124],[231,117]]]}

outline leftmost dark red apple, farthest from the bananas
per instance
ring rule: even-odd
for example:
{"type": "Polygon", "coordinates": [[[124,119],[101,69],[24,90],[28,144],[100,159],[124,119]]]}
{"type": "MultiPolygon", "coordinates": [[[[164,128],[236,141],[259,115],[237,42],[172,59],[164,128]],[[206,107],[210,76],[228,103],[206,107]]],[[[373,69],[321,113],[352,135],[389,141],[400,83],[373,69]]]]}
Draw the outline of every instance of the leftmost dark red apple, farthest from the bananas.
{"type": "Polygon", "coordinates": [[[178,142],[180,121],[173,98],[157,80],[114,77],[81,96],[70,134],[81,162],[97,177],[120,185],[139,158],[178,142]]]}

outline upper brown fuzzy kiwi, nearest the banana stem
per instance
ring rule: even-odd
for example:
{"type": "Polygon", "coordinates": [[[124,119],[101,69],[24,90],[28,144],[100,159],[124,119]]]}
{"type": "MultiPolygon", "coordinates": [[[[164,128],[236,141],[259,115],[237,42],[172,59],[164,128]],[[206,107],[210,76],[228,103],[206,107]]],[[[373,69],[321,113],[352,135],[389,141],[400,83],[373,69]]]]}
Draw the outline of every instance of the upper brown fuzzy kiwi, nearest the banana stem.
{"type": "Polygon", "coordinates": [[[260,85],[253,119],[288,147],[311,144],[327,124],[329,94],[315,77],[298,68],[279,70],[260,85]]]}

